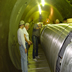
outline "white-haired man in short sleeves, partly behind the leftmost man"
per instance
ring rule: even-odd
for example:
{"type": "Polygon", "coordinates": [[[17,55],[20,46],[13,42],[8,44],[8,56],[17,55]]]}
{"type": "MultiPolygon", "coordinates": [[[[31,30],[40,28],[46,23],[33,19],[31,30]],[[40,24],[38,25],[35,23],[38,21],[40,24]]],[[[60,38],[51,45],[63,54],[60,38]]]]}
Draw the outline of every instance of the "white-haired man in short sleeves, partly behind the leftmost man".
{"type": "MultiPolygon", "coordinates": [[[[29,23],[26,23],[25,27],[23,28],[23,32],[24,32],[25,44],[26,44],[26,48],[27,48],[27,55],[28,55],[28,47],[29,47],[29,45],[32,44],[32,42],[29,40],[29,34],[27,32],[28,29],[29,29],[29,23]]],[[[27,61],[27,63],[28,63],[28,61],[27,61]]]]}

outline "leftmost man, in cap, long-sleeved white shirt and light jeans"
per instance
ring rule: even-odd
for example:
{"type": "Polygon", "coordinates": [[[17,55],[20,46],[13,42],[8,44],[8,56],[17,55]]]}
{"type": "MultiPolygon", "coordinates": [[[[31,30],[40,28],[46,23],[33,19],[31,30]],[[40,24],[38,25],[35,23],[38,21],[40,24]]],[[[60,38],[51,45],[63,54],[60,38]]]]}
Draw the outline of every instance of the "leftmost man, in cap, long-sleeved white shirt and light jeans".
{"type": "Polygon", "coordinates": [[[20,21],[19,29],[18,29],[18,43],[19,43],[19,50],[21,54],[21,68],[22,72],[28,72],[27,68],[27,49],[25,46],[25,38],[23,33],[24,21],[20,21]]]}

